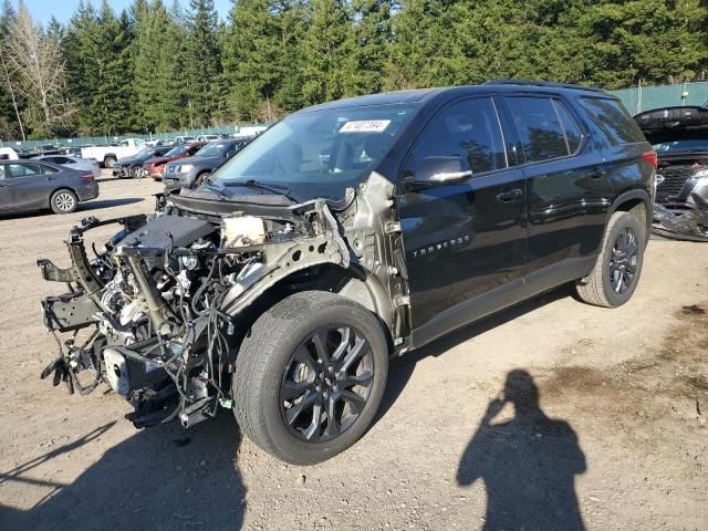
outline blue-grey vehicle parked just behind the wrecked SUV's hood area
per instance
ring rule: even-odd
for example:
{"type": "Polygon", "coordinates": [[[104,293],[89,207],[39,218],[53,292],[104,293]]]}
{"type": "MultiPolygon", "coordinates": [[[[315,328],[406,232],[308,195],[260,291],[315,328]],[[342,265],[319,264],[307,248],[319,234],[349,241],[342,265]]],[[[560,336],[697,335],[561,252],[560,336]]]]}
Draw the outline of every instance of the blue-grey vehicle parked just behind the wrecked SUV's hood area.
{"type": "Polygon", "coordinates": [[[246,146],[246,140],[216,140],[199,149],[192,157],[173,160],[163,174],[165,192],[181,187],[196,188],[216,168],[226,163],[246,146]]]}

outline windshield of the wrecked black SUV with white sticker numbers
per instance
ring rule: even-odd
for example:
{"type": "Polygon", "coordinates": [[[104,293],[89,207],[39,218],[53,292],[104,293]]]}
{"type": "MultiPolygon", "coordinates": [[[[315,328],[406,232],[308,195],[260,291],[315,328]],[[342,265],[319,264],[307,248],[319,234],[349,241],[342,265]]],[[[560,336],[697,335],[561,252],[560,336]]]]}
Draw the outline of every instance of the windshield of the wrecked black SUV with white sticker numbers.
{"type": "Polygon", "coordinates": [[[383,159],[418,105],[371,105],[293,114],[270,127],[211,179],[287,186],[299,200],[340,199],[383,159]]]}

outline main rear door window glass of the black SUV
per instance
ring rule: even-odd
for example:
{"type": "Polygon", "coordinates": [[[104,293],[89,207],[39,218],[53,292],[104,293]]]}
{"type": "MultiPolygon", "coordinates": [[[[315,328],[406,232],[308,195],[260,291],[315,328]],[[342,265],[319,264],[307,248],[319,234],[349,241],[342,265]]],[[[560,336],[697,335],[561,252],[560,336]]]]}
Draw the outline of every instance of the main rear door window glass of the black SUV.
{"type": "Polygon", "coordinates": [[[549,97],[508,97],[528,163],[569,155],[563,127],[549,97]]]}

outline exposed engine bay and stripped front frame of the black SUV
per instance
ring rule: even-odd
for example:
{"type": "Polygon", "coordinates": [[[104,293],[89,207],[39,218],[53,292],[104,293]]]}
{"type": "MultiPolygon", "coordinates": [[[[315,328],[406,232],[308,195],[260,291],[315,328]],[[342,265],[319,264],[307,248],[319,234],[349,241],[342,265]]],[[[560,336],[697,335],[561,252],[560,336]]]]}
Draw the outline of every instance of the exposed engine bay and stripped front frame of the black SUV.
{"type": "Polygon", "coordinates": [[[313,288],[371,309],[402,345],[407,277],[392,195],[374,173],[336,202],[183,190],[149,215],[82,220],[65,242],[71,267],[38,261],[67,285],[42,301],[59,350],[42,378],[82,395],[107,384],[136,427],[189,427],[231,407],[238,346],[258,313],[313,288]],[[121,230],[90,259],[84,235],[112,223],[121,230]]]}

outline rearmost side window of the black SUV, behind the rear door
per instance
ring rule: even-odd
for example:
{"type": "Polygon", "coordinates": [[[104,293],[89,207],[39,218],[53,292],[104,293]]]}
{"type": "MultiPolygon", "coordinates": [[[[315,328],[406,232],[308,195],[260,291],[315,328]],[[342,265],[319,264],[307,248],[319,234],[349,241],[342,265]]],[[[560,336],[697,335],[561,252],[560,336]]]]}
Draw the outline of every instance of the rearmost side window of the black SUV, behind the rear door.
{"type": "Polygon", "coordinates": [[[581,97],[579,102],[595,124],[604,147],[646,142],[639,126],[616,100],[581,97]]]}

